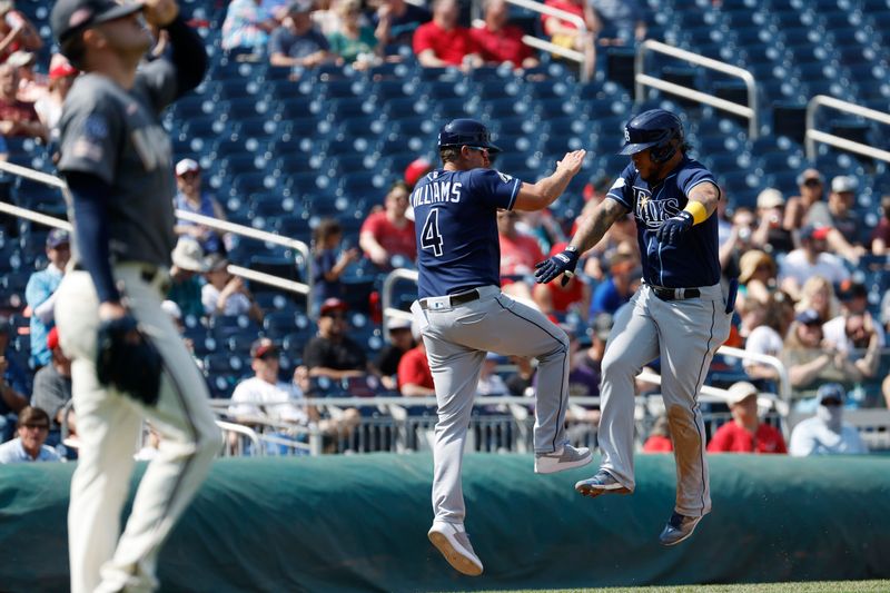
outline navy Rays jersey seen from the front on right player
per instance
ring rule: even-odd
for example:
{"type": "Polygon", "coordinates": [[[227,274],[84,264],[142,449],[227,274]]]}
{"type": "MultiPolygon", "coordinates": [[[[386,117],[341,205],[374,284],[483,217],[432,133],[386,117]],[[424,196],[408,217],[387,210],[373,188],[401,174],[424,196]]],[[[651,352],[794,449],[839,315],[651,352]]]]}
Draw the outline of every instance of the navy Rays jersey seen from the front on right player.
{"type": "Polygon", "coordinates": [[[680,214],[692,188],[704,182],[716,186],[711,171],[689,157],[654,185],[644,181],[631,162],[606,194],[634,214],[636,240],[643,256],[643,279],[647,284],[693,288],[720,281],[716,216],[693,226],[681,236],[678,245],[662,244],[655,238],[662,221],[680,214]]]}

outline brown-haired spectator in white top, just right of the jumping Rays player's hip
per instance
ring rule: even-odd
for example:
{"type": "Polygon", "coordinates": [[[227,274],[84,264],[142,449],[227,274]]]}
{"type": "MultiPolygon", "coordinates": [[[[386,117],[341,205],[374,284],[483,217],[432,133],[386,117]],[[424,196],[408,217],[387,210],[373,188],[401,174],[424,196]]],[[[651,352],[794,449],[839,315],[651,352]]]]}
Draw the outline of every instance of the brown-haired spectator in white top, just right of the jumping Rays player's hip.
{"type": "MultiPolygon", "coordinates": [[[[785,336],[794,320],[794,303],[785,293],[777,291],[762,303],[751,303],[750,308],[751,314],[759,316],[759,320],[748,334],[745,352],[780,358],[785,336]]],[[[742,366],[752,379],[779,380],[779,370],[770,365],[745,359],[742,366]]]]}

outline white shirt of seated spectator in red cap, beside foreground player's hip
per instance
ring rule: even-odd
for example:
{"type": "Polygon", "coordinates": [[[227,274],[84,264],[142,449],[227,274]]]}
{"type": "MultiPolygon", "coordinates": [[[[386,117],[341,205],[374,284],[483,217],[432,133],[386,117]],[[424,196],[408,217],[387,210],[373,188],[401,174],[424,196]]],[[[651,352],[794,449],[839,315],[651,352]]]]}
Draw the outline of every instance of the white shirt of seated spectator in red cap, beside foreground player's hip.
{"type": "Polygon", "coordinates": [[[258,377],[239,383],[231,394],[228,413],[238,417],[268,417],[273,422],[309,424],[306,406],[298,404],[303,391],[293,383],[279,380],[275,385],[258,377]]]}

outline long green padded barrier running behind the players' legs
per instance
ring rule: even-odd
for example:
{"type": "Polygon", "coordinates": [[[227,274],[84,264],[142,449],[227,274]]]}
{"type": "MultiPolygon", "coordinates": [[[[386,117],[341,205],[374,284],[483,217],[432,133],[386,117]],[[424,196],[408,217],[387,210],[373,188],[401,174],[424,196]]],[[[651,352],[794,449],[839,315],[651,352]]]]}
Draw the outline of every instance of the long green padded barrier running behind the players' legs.
{"type": "MultiPolygon", "coordinates": [[[[531,455],[468,455],[455,573],[426,540],[429,455],[222,459],[160,555],[164,591],[421,591],[890,577],[890,457],[711,456],[714,511],[675,548],[671,455],[632,496],[572,490],[531,455]]],[[[595,461],[594,461],[595,463],[595,461]]],[[[140,466],[141,468],[141,466],[140,466]]],[[[65,591],[71,464],[0,466],[0,591],[65,591]]]]}

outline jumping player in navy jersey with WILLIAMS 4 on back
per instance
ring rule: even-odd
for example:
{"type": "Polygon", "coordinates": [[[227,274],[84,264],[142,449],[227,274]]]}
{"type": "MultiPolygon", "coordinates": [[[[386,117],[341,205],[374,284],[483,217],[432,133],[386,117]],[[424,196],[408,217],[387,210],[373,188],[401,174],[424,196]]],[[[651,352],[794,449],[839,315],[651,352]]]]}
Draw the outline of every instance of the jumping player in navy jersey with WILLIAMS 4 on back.
{"type": "Polygon", "coordinates": [[[438,135],[443,167],[421,179],[411,196],[417,236],[418,296],[412,306],[423,333],[436,388],[438,423],[433,456],[428,536],[457,571],[482,574],[464,530],[461,466],[486,352],[535,357],[535,472],[550,474],[591,462],[587,448],[565,437],[568,338],[538,310],[501,293],[498,208],[541,210],[581,169],[584,150],[565,155],[536,184],[490,168],[500,149],[473,119],[455,119],[438,135]]]}

